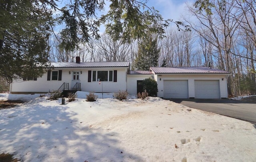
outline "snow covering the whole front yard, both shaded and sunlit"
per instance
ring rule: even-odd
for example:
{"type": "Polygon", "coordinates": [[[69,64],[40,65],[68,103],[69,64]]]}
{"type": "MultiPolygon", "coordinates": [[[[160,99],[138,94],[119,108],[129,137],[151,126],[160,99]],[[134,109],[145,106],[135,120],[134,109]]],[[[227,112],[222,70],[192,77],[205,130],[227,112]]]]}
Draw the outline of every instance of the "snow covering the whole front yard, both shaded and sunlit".
{"type": "Polygon", "coordinates": [[[81,96],[1,109],[0,153],[24,162],[256,161],[256,126],[246,121],[160,98],[81,96]]]}

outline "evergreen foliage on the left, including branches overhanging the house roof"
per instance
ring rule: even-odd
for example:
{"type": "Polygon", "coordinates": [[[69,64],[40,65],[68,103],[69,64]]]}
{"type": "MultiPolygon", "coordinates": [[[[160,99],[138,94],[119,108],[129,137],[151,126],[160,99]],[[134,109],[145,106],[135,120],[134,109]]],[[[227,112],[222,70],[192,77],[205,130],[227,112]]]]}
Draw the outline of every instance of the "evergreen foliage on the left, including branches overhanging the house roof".
{"type": "Polygon", "coordinates": [[[46,51],[50,33],[61,35],[56,38],[65,51],[98,38],[103,23],[107,33],[123,42],[145,37],[147,31],[163,35],[172,20],[164,21],[146,2],[110,0],[109,12],[98,17],[104,0],[66,0],[62,7],[59,0],[0,0],[0,76],[8,82],[42,76],[49,66],[46,51]],[[54,31],[57,25],[63,28],[54,31]]]}

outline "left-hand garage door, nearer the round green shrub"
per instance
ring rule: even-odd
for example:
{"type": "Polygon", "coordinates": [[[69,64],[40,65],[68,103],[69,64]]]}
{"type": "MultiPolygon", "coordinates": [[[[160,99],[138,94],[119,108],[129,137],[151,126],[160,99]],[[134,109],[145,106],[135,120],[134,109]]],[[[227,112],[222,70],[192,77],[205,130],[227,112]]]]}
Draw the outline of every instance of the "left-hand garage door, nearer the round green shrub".
{"type": "Polygon", "coordinates": [[[164,80],[164,98],[188,98],[188,80],[164,80]]]}

